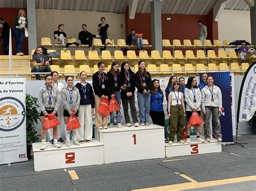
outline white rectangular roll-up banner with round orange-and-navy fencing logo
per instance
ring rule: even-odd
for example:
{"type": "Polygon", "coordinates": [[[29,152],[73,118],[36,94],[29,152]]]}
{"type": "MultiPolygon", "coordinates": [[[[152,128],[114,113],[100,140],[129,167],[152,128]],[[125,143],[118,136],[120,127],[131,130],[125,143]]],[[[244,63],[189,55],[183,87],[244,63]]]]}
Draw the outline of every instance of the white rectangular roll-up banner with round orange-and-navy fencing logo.
{"type": "Polygon", "coordinates": [[[26,161],[26,78],[0,77],[0,165],[26,161]]]}

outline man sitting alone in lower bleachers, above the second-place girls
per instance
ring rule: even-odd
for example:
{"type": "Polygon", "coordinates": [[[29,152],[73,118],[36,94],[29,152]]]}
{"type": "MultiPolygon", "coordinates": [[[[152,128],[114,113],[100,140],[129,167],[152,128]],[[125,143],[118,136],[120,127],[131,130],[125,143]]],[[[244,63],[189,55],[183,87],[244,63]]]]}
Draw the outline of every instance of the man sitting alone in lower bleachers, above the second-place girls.
{"type": "MultiPolygon", "coordinates": [[[[47,55],[43,54],[42,47],[36,48],[36,54],[32,55],[32,72],[51,72],[47,55]]],[[[36,74],[36,79],[41,80],[40,74],[36,74]]]]}

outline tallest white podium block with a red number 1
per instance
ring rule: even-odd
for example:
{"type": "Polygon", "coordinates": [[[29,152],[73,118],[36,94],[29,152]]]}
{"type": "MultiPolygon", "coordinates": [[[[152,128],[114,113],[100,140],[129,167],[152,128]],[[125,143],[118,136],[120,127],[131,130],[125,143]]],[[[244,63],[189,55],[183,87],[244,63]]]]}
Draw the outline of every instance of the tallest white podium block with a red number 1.
{"type": "Polygon", "coordinates": [[[165,157],[164,128],[159,125],[95,128],[95,138],[104,144],[105,164],[165,157]]]}

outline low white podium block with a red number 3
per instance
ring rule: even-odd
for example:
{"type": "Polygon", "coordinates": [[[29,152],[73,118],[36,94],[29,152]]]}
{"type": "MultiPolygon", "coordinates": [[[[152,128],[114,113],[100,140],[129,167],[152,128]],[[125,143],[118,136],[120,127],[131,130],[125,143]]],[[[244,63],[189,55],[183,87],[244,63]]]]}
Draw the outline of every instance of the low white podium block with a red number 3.
{"type": "Polygon", "coordinates": [[[221,152],[221,142],[212,139],[211,142],[194,142],[190,144],[173,143],[172,145],[165,144],[166,157],[179,157],[185,155],[206,154],[221,152]]]}

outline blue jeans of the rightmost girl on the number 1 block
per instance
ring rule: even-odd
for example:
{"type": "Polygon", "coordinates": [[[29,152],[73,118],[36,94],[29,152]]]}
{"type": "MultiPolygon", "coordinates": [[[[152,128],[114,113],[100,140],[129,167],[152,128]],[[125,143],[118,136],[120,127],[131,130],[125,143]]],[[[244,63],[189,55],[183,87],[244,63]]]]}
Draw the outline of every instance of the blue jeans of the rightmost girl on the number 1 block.
{"type": "Polygon", "coordinates": [[[150,94],[138,93],[139,121],[148,123],[150,115],[150,94]]]}

